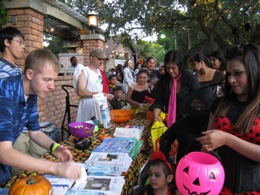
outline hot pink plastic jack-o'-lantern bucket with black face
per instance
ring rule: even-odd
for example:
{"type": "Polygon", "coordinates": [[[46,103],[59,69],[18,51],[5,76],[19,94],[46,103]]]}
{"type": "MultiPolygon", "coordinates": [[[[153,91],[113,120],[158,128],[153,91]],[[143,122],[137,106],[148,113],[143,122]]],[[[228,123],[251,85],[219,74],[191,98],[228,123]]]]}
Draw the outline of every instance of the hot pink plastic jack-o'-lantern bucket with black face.
{"type": "Polygon", "coordinates": [[[183,195],[216,195],[225,179],[223,166],[208,153],[191,152],[184,156],[176,169],[176,184],[183,195]]]}

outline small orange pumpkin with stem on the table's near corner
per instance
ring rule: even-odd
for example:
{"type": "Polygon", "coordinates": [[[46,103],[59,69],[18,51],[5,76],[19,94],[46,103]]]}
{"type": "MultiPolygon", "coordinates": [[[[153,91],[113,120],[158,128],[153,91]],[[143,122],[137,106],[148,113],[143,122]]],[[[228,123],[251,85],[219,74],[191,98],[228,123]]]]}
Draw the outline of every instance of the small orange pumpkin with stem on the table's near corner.
{"type": "Polygon", "coordinates": [[[49,180],[41,175],[28,176],[15,182],[8,195],[50,195],[52,186],[49,180]]]}

